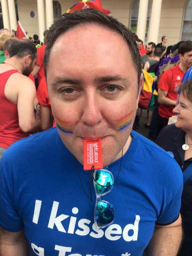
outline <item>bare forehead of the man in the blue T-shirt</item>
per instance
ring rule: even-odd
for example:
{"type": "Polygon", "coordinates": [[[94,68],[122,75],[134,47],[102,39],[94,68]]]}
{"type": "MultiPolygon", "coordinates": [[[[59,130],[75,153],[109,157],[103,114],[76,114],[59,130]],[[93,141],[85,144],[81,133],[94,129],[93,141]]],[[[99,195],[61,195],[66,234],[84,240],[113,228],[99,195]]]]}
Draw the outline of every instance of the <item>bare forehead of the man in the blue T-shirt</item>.
{"type": "MultiPolygon", "coordinates": [[[[129,46],[122,36],[99,25],[74,27],[55,41],[47,66],[47,81],[55,76],[78,78],[96,75],[127,75],[137,79],[129,46]]],[[[49,85],[48,85],[49,86],[49,85]]]]}

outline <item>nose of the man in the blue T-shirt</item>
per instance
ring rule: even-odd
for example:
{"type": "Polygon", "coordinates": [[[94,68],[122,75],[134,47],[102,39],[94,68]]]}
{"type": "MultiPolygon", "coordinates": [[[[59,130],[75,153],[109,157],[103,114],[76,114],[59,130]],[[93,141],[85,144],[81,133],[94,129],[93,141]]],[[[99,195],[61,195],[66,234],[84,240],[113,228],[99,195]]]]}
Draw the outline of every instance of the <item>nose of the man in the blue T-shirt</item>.
{"type": "Polygon", "coordinates": [[[97,125],[102,121],[99,96],[94,91],[87,93],[84,98],[82,121],[89,126],[97,125]]]}

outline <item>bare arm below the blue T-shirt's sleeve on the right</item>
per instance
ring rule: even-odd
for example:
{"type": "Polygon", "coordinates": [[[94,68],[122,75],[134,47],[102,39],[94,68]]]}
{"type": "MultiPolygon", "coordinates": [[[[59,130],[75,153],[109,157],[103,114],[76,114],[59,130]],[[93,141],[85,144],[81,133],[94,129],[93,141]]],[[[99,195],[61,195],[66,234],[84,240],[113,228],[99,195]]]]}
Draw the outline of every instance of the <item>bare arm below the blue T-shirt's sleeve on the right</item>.
{"type": "Polygon", "coordinates": [[[170,225],[156,225],[147,256],[176,256],[182,241],[181,215],[170,225]]]}

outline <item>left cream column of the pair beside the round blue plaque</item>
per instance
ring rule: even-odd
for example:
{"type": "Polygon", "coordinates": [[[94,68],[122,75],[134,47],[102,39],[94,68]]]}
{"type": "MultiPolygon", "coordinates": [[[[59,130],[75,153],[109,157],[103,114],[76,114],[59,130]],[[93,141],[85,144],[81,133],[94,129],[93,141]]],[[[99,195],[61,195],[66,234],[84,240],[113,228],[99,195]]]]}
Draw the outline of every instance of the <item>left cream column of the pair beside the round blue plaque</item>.
{"type": "Polygon", "coordinates": [[[38,11],[38,25],[39,25],[39,39],[43,42],[45,31],[45,3],[44,0],[37,0],[37,11],[38,11]]]}

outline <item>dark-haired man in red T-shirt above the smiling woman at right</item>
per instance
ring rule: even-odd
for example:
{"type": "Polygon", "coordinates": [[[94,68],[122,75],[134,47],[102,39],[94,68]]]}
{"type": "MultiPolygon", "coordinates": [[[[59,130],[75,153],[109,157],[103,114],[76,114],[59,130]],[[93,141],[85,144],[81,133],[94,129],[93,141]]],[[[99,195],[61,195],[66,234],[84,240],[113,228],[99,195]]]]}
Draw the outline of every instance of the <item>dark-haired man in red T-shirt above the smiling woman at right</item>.
{"type": "Polygon", "coordinates": [[[158,84],[158,133],[167,125],[177,100],[175,88],[181,82],[185,72],[192,66],[192,41],[179,46],[180,63],[166,70],[158,84]]]}

